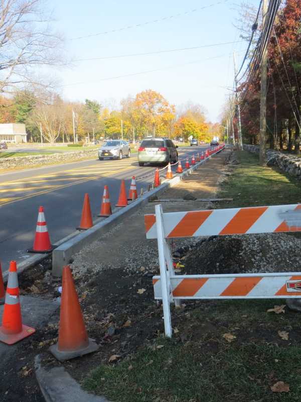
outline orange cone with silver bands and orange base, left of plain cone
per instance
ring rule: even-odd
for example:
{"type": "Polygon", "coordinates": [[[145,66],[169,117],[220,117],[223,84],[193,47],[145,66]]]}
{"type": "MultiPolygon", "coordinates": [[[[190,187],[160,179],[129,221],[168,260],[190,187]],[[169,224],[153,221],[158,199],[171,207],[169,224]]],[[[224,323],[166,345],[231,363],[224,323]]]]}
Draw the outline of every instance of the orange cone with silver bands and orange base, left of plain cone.
{"type": "Polygon", "coordinates": [[[11,261],[2,326],[0,327],[0,341],[13,345],[34,332],[36,332],[34,328],[22,324],[17,263],[11,261]]]}

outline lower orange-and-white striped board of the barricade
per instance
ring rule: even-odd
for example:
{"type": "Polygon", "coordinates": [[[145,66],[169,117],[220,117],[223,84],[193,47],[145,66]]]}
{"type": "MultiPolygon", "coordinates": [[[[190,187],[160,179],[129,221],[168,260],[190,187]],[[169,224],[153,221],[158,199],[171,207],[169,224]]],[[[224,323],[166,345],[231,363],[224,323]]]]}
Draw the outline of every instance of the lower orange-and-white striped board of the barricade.
{"type": "MultiPolygon", "coordinates": [[[[162,298],[160,276],[153,277],[155,298],[162,298]]],[[[170,277],[175,299],[301,297],[301,272],[176,275],[170,277]]]]}

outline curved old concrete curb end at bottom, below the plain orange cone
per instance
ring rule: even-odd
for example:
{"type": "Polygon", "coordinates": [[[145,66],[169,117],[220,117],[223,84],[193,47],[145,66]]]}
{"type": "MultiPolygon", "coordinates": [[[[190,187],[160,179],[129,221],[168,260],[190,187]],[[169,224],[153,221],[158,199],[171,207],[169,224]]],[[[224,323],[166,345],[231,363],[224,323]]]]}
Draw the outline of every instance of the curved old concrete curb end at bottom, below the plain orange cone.
{"type": "Polygon", "coordinates": [[[35,357],[35,372],[46,402],[109,402],[103,396],[84,391],[63,366],[46,370],[40,355],[35,357]]]}

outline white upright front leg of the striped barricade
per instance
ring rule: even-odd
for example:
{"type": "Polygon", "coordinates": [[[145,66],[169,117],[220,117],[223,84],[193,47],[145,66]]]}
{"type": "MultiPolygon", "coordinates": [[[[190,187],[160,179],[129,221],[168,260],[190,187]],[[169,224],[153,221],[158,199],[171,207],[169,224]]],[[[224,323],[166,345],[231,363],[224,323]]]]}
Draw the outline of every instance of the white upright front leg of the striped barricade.
{"type": "Polygon", "coordinates": [[[156,222],[157,222],[157,238],[158,238],[158,251],[159,251],[159,263],[160,263],[164,328],[165,328],[165,335],[171,338],[172,319],[170,309],[170,279],[166,269],[166,256],[165,256],[166,239],[163,226],[162,206],[156,205],[155,211],[156,211],[156,222]]]}

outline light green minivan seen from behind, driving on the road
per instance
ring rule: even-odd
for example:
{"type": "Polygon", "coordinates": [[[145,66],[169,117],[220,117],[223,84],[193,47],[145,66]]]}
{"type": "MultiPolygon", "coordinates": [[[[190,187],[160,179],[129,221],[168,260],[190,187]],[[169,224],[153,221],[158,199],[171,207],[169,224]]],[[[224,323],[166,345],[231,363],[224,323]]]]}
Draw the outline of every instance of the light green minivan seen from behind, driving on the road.
{"type": "Polygon", "coordinates": [[[138,148],[138,163],[175,163],[178,161],[178,146],[164,137],[145,138],[138,148]]]}

